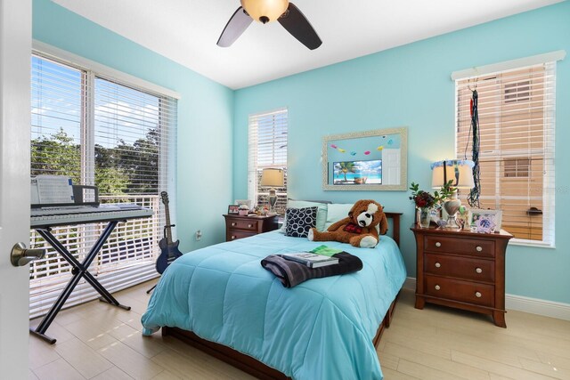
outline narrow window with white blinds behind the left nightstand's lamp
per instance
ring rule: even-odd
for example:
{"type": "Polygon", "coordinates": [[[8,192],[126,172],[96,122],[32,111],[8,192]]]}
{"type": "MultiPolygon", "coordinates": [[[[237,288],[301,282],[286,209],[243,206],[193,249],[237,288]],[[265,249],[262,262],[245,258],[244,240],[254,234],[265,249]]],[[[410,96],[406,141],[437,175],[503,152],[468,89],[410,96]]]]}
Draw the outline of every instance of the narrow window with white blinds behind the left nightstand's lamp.
{"type": "Polygon", "coordinates": [[[251,115],[248,133],[248,199],[256,205],[269,205],[269,189],[259,186],[266,167],[282,168],[285,185],[275,189],[275,212],[284,215],[287,207],[287,109],[251,115]]]}

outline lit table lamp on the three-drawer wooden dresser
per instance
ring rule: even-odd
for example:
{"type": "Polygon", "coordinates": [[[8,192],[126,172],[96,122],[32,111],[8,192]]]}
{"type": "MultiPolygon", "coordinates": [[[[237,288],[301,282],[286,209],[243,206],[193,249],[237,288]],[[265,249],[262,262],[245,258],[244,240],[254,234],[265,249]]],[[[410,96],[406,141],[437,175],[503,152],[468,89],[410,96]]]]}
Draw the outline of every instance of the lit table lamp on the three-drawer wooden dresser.
{"type": "Polygon", "coordinates": [[[457,198],[459,189],[473,189],[475,182],[473,181],[473,161],[468,159],[446,159],[437,161],[431,165],[432,179],[431,186],[434,189],[443,187],[446,183],[452,181],[450,190],[452,197],[444,201],[444,210],[447,213],[447,224],[445,228],[460,229],[460,225],[455,220],[455,214],[460,209],[461,200],[457,198]]]}

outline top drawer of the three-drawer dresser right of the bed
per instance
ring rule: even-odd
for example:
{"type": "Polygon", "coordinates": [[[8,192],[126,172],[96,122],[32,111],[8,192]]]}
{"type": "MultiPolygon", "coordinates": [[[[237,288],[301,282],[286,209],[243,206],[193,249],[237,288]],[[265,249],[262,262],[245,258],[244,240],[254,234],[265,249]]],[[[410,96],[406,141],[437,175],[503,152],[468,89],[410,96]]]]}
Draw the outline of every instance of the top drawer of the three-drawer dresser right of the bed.
{"type": "Polygon", "coordinates": [[[494,257],[495,243],[483,239],[455,239],[444,236],[426,236],[425,250],[434,253],[473,255],[479,257],[494,257]]]}

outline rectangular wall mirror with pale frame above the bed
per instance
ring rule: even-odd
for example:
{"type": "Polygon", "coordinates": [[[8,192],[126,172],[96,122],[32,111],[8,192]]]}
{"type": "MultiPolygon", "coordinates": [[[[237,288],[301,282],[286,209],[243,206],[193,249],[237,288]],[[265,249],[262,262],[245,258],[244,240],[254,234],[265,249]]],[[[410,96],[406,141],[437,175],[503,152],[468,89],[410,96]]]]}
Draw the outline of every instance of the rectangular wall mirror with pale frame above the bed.
{"type": "Polygon", "coordinates": [[[407,190],[408,129],[322,137],[322,190],[407,190]]]}

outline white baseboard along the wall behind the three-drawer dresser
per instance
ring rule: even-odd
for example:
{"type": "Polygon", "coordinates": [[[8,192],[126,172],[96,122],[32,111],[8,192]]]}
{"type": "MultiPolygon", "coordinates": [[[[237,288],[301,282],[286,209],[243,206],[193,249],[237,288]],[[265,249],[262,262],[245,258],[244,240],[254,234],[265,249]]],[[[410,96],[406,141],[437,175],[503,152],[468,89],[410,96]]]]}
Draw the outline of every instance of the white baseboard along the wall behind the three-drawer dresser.
{"type": "MultiPolygon", "coordinates": [[[[408,277],[403,282],[403,288],[415,291],[416,279],[408,277]]],[[[524,297],[521,295],[505,295],[507,310],[516,310],[538,314],[544,317],[570,320],[570,304],[524,297]]]]}

